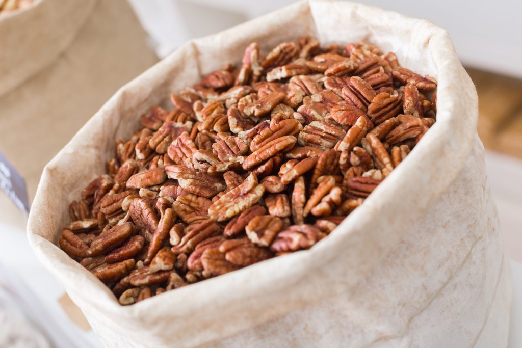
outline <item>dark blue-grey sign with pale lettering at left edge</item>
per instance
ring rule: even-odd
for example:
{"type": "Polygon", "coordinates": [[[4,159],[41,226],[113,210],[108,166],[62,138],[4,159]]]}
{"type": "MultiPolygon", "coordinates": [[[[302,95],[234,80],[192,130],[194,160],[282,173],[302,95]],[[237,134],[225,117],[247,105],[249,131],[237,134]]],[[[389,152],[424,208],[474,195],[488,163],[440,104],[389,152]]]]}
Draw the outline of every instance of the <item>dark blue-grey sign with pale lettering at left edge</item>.
{"type": "Polygon", "coordinates": [[[26,182],[2,152],[0,152],[0,188],[20,210],[29,212],[26,182]]]}

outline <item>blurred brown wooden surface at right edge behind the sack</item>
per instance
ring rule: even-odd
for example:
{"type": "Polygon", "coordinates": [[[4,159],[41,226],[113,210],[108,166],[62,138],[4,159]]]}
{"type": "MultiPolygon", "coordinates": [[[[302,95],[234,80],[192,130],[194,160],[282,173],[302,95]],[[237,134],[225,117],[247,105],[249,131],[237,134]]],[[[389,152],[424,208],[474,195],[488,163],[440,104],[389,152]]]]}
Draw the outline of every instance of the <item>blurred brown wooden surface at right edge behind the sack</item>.
{"type": "Polygon", "coordinates": [[[484,146],[522,159],[522,80],[468,68],[479,94],[484,146]]]}

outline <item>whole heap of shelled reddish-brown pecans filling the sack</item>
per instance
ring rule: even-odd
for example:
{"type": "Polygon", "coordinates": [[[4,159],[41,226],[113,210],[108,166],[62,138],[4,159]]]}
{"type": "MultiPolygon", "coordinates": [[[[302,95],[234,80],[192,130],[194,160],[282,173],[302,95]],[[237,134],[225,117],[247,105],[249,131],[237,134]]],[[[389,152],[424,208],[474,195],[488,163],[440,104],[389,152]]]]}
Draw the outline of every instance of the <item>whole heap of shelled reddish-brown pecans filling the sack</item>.
{"type": "Polygon", "coordinates": [[[123,305],[308,249],[433,125],[435,88],[372,44],[252,43],[116,141],[60,247],[123,305]]]}

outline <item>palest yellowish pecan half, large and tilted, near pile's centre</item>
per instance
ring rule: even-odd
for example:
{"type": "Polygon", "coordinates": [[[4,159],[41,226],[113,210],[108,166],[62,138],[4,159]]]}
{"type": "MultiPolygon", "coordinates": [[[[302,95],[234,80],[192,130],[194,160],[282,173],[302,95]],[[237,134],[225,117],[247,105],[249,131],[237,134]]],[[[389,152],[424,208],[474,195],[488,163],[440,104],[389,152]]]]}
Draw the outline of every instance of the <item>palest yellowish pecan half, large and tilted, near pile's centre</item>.
{"type": "Polygon", "coordinates": [[[228,220],[253,206],[264,192],[265,187],[258,184],[257,176],[250,174],[241,185],[213,202],[208,208],[208,215],[213,220],[228,220]]]}

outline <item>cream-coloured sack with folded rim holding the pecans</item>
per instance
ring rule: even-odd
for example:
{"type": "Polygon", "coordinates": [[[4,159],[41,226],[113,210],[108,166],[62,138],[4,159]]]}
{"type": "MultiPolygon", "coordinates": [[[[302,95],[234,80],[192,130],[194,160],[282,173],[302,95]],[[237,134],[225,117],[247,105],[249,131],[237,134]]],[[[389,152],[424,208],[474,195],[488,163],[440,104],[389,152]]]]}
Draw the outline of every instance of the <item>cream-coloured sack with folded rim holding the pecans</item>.
{"type": "Polygon", "coordinates": [[[29,241],[110,347],[506,346],[511,287],[476,134],[477,94],[446,32],[346,2],[301,2],[182,46],[118,91],[46,166],[29,241]],[[311,250],[132,306],[56,247],[67,204],[138,115],[202,73],[312,35],[367,40],[438,79],[437,122],[374,193],[311,250]],[[87,169],[88,167],[88,169],[87,169]]]}

